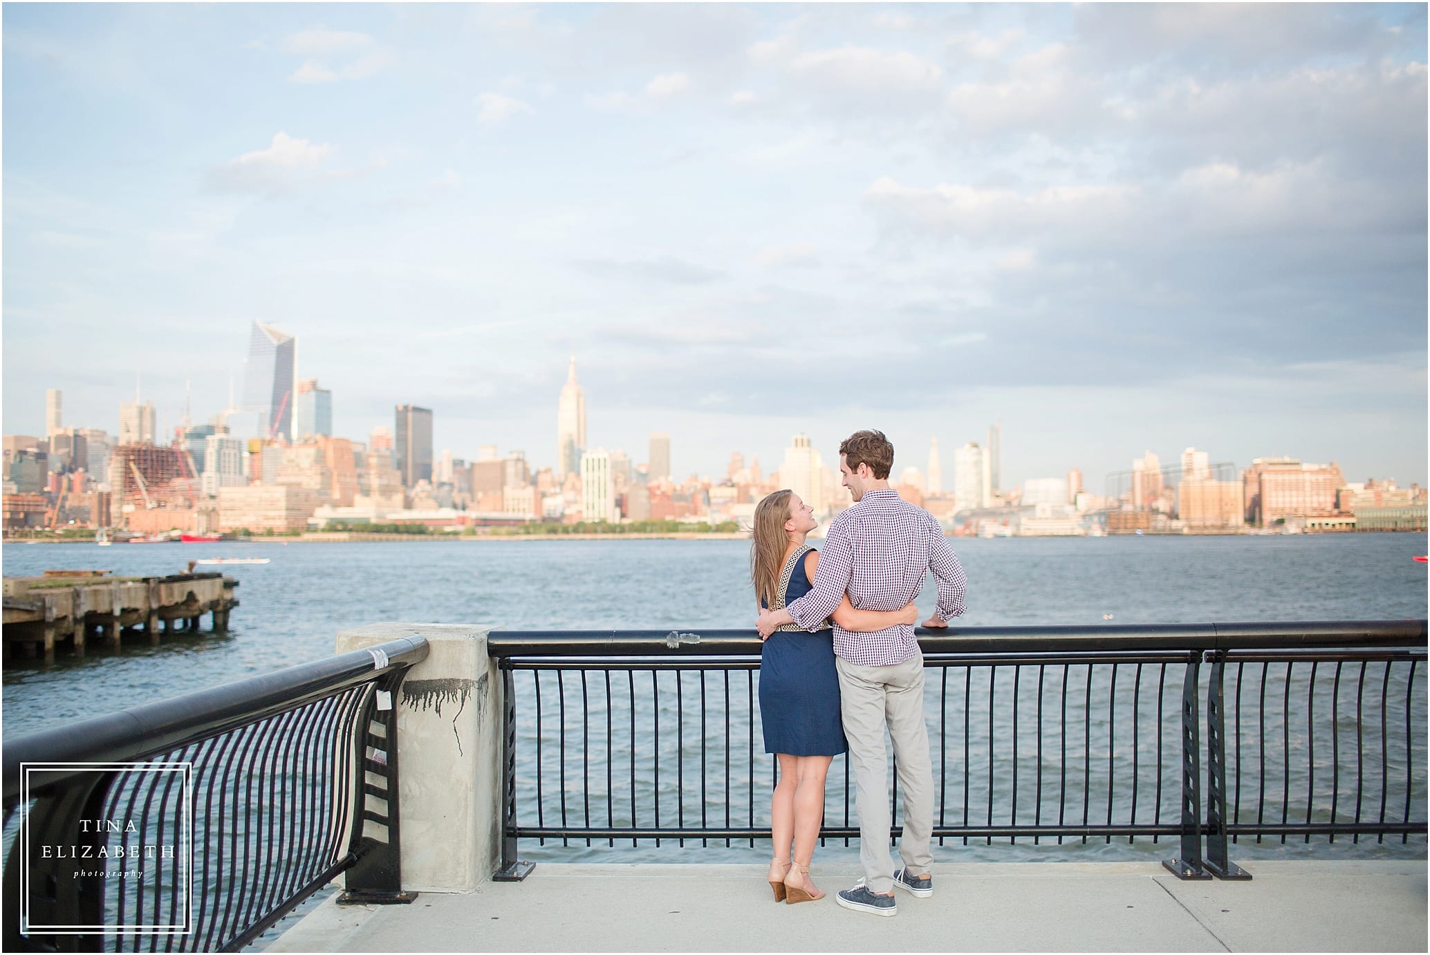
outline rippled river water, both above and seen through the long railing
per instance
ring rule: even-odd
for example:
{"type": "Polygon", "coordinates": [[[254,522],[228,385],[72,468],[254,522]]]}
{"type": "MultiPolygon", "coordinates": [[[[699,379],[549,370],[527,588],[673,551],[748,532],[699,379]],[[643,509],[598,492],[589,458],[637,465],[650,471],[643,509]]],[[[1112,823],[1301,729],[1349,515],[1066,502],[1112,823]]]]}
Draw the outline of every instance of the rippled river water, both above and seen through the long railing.
{"type": "MultiPolygon", "coordinates": [[[[1424,536],[1417,535],[1004,539],[958,540],[955,549],[968,572],[968,613],[961,622],[967,626],[1104,623],[1108,618],[1113,623],[1207,623],[1426,616],[1426,566],[1411,560],[1426,550],[1424,536]]],[[[117,655],[94,648],[83,659],[61,655],[53,666],[33,660],[10,663],[4,668],[4,732],[27,733],[319,659],[333,652],[333,638],[339,630],[380,620],[475,622],[515,630],[715,629],[744,628],[754,620],[754,598],[746,579],[748,545],[741,540],[250,542],[117,545],[103,549],[93,545],[10,545],[3,553],[7,576],[79,568],[107,569],[116,575],[160,575],[183,570],[187,560],[202,556],[263,556],[270,560],[267,565],[223,568],[240,583],[237,595],[242,603],[232,615],[229,633],[166,635],[157,648],[149,646],[147,639],[140,636],[126,642],[117,655]]],[[[932,610],[934,598],[935,588],[930,582],[919,598],[925,615],[932,610]]],[[[935,679],[948,683],[950,678],[938,673],[935,679]]],[[[1369,675],[1371,689],[1367,699],[1371,702],[1367,705],[1376,708],[1377,693],[1389,692],[1396,701],[1409,693],[1413,698],[1410,718],[1416,728],[1407,723],[1407,732],[1393,733],[1384,743],[1390,746],[1386,792],[1393,795],[1394,805],[1404,801],[1403,793],[1409,792],[1417,812],[1423,813],[1424,673],[1411,678],[1410,683],[1400,672],[1394,679],[1384,678],[1389,691],[1377,689],[1379,673],[1381,671],[1369,675]],[[1406,745],[1411,745],[1413,752],[1403,756],[1406,745]]],[[[961,709],[965,705],[960,702],[964,698],[958,696],[958,685],[974,676],[960,669],[951,675],[954,691],[945,695],[947,686],[938,689],[930,683],[925,701],[935,739],[940,805],[947,799],[952,806],[948,809],[954,813],[950,822],[964,812],[965,798],[967,812],[975,823],[984,818],[997,822],[1011,813],[1018,813],[1021,819],[1037,806],[1042,806],[1037,811],[1047,813],[1044,818],[1067,811],[1072,813],[1070,819],[1088,816],[1094,822],[1100,813],[1111,822],[1114,812],[1117,818],[1124,818],[1125,812],[1140,813],[1138,819],[1147,819],[1150,812],[1160,812],[1164,819],[1175,816],[1175,699],[1181,679],[1175,668],[1171,672],[1163,668],[1143,673],[1124,666],[1113,683],[1107,683],[1105,672],[1098,673],[1095,686],[1088,682],[1093,681],[1091,671],[1083,676],[1081,671],[1052,668],[1042,673],[1034,668],[1021,688],[1012,682],[1017,678],[1012,668],[1004,668],[997,678],[982,669],[974,675],[978,683],[971,683],[975,686],[971,692],[977,702],[968,696],[967,715],[961,709]],[[1121,682],[1117,683],[1117,679],[1121,682]],[[987,688],[978,689],[984,682],[987,688]],[[1065,716],[1055,723],[1030,723],[1028,715],[1041,712],[1040,706],[1050,713],[1061,712],[1064,702],[1058,693],[1065,683],[1071,689],[1065,716]],[[994,695],[1002,701],[995,712],[990,711],[994,695]],[[1093,706],[1091,719],[1084,715],[1083,698],[1104,701],[1111,696],[1117,698],[1113,703],[1115,719],[1108,719],[1108,709],[1101,702],[1093,706]],[[1021,718],[1007,709],[1014,698],[1022,703],[1021,718]],[[1141,728],[1140,739],[1131,729],[1134,723],[1141,728]],[[1120,733],[1115,743],[1114,729],[1120,733]],[[1067,759],[1067,772],[1058,768],[1061,761],[1051,761],[1054,751],[1067,759]],[[1047,753],[1047,758],[1040,753],[1047,753]],[[1128,771],[1130,759],[1140,759],[1141,768],[1128,771]],[[1124,779],[1115,792],[1105,782],[1105,775],[1098,775],[1104,762],[1110,768],[1115,762],[1118,776],[1124,779]],[[1161,773],[1158,765],[1164,768],[1161,773]],[[1088,776],[1085,785],[1084,775],[1088,776]],[[1141,791],[1130,791],[1127,779],[1140,781],[1141,791]],[[1062,789],[1068,791],[1065,801],[1062,789]],[[1017,808],[1020,805],[1021,809],[1017,808]]],[[[1234,683],[1228,676],[1228,693],[1244,679],[1251,688],[1244,693],[1248,708],[1261,698],[1270,699],[1268,709],[1256,711],[1254,716],[1248,709],[1247,719],[1266,723],[1256,738],[1266,735],[1273,762],[1286,763],[1288,753],[1318,746],[1320,755],[1313,761],[1318,776],[1313,781],[1307,769],[1293,768],[1286,776],[1290,779],[1287,792],[1314,786],[1320,801],[1336,799],[1334,793],[1321,792],[1336,785],[1337,778],[1327,768],[1327,753],[1334,756],[1333,762],[1341,763],[1340,776],[1348,785],[1353,769],[1347,761],[1356,758],[1350,748],[1356,731],[1354,721],[1344,726],[1340,723],[1346,718],[1346,706],[1351,705],[1348,701],[1357,699],[1350,696],[1351,688],[1366,683],[1366,673],[1351,669],[1341,681],[1338,671],[1331,673],[1327,669],[1320,676],[1298,672],[1293,679],[1290,672],[1283,676],[1280,671],[1273,671],[1270,696],[1261,671],[1236,676],[1234,683]],[[1290,715],[1290,722],[1281,721],[1277,705],[1278,688],[1291,685],[1294,693],[1287,691],[1286,699],[1294,696],[1300,705],[1307,679],[1316,681],[1314,693],[1320,701],[1310,733],[1306,723],[1296,722],[1301,719],[1298,715],[1290,715]],[[1326,718],[1336,711],[1327,695],[1340,695],[1340,721],[1326,718]],[[1338,755],[1337,732],[1346,739],[1338,755]],[[1281,751],[1276,749],[1277,741],[1281,741],[1281,751]]],[[[588,819],[599,825],[608,816],[612,821],[625,816],[629,825],[629,812],[636,806],[641,806],[642,823],[648,823],[646,816],[656,802],[666,812],[666,825],[671,816],[694,823],[706,821],[706,815],[711,825],[718,825],[726,808],[734,812],[734,819],[754,819],[756,825],[768,819],[771,778],[754,703],[758,673],[712,673],[708,686],[698,682],[698,673],[691,673],[684,688],[675,683],[672,673],[666,673],[661,678],[665,689],[659,693],[651,683],[654,675],[645,673],[639,685],[645,688],[651,683],[649,688],[636,695],[632,683],[629,691],[631,705],[648,713],[635,722],[629,716],[631,705],[622,709],[619,692],[631,681],[622,673],[615,678],[616,692],[606,699],[605,678],[593,676],[598,682],[589,688],[592,696],[586,706],[581,701],[588,688],[579,673],[568,673],[561,685],[553,675],[543,678],[546,722],[538,731],[533,722],[536,682],[531,675],[522,675],[518,682],[522,825],[535,823],[533,813],[543,815],[548,823],[569,813],[572,825],[588,819]],[[726,689],[724,683],[731,678],[734,683],[726,689]],[[706,729],[701,722],[701,699],[706,695],[716,703],[711,719],[725,721],[725,692],[731,692],[732,701],[728,735],[724,726],[715,729],[711,723],[712,728],[706,729]],[[566,715],[559,712],[563,702],[571,705],[566,715]],[[612,726],[622,728],[622,732],[625,726],[631,728],[623,745],[621,733],[615,735],[611,751],[605,742],[606,732],[611,732],[605,725],[606,712],[615,718],[612,726]],[[562,722],[549,722],[556,716],[562,722]],[[536,746],[538,738],[543,741],[542,748],[536,746]],[[631,753],[641,755],[632,761],[631,753]],[[642,761],[654,762],[646,768],[642,761]],[[704,782],[704,762],[709,763],[709,785],[704,782]],[[543,776],[541,792],[545,795],[541,799],[536,798],[538,772],[543,776]],[[612,775],[609,789],[608,772],[612,775]],[[726,778],[729,786],[724,782],[726,778]],[[622,809],[628,803],[629,809],[622,809]],[[684,815],[686,812],[699,815],[684,815]]],[[[1233,703],[1234,699],[1228,706],[1233,703]]],[[[1370,729],[1366,732],[1371,736],[1374,722],[1367,723],[1370,729]]],[[[1383,743],[1379,741],[1374,736],[1366,742],[1367,752],[1373,751],[1371,775],[1367,776],[1373,801],[1381,792],[1373,778],[1380,765],[1383,743]]],[[[1253,741],[1247,745],[1253,746],[1253,741]]],[[[1278,818],[1286,812],[1281,805],[1284,796],[1276,792],[1281,776],[1273,773],[1268,796],[1250,795],[1254,792],[1250,776],[1253,758],[1260,763],[1261,751],[1247,751],[1247,779],[1237,778],[1228,785],[1234,783],[1234,795],[1241,796],[1246,791],[1247,798],[1256,799],[1256,812],[1270,801],[1267,811],[1278,818]]],[[[848,819],[844,789],[841,759],[831,768],[827,801],[827,818],[835,823],[848,819]]],[[[1343,801],[1341,805],[1348,803],[1343,801]]],[[[1296,809],[1296,796],[1291,806],[1294,819],[1294,812],[1300,811],[1296,809]]],[[[1344,819],[1344,815],[1340,818],[1344,819]]],[[[535,859],[599,861],[612,859],[611,853],[618,852],[622,862],[671,861],[676,848],[671,842],[664,841],[658,848],[649,842],[608,846],[601,839],[589,846],[585,839],[569,845],[562,845],[559,839],[548,841],[543,846],[532,841],[523,842],[522,853],[535,859]]],[[[968,846],[955,841],[937,849],[937,853],[940,858],[995,861],[1161,858],[1175,852],[1170,843],[1174,839],[1153,842],[1140,838],[1133,845],[1124,839],[1110,843],[1072,839],[1062,846],[1047,839],[1038,846],[1028,839],[1020,839],[1015,846],[1001,839],[991,845],[988,841],[972,841],[968,846]]],[[[699,846],[699,841],[688,841],[686,852],[694,846],[699,846]]],[[[1341,846],[1344,841],[1337,843],[1336,851],[1344,851],[1341,846]]],[[[1287,845],[1280,845],[1277,839],[1261,846],[1243,843],[1236,849],[1243,859],[1267,855],[1294,858],[1324,851],[1324,838],[1317,838],[1313,845],[1297,838],[1287,845]]],[[[736,861],[765,858],[768,846],[756,841],[754,848],[748,842],[725,848],[721,842],[718,848],[701,846],[699,852],[701,861],[736,861]]],[[[829,845],[821,852],[852,859],[857,843],[849,848],[829,845]]],[[[1384,843],[1367,841],[1351,846],[1350,852],[1361,856],[1423,855],[1424,838],[1417,836],[1410,845],[1400,845],[1399,838],[1384,843]]],[[[679,858],[695,861],[684,853],[679,858]]]]}

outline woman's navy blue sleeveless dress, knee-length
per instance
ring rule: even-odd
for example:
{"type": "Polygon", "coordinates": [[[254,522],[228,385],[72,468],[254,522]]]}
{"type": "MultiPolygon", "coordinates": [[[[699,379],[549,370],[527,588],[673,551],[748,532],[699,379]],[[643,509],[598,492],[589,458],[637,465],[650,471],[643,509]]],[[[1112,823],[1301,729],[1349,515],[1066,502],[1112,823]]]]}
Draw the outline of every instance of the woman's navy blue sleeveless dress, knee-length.
{"type": "MultiPolygon", "coordinates": [[[[814,586],[804,569],[808,552],[805,548],[795,553],[794,568],[785,568],[785,606],[814,586]]],[[[838,756],[848,749],[828,623],[814,633],[798,628],[775,630],[765,640],[759,652],[759,718],[766,753],[838,756]]]]}

